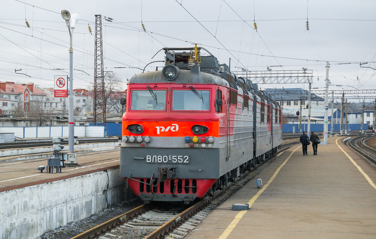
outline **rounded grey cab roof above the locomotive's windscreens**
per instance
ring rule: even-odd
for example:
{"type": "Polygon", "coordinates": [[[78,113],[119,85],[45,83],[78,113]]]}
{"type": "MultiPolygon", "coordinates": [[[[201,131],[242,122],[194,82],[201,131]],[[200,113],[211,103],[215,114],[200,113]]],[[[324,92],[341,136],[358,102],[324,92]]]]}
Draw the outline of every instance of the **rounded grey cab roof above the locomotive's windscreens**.
{"type": "Polygon", "coordinates": [[[228,86],[229,82],[213,74],[200,72],[200,74],[191,73],[190,70],[179,70],[174,80],[166,80],[162,76],[162,71],[150,71],[132,76],[128,83],[182,83],[182,84],[217,84],[228,86]]]}

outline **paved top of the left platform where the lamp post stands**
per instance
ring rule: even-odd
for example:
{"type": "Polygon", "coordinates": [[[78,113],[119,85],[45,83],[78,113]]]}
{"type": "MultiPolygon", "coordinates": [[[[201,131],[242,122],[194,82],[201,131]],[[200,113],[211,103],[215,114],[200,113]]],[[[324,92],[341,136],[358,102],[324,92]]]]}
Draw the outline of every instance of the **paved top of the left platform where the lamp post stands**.
{"type": "Polygon", "coordinates": [[[37,169],[40,165],[47,165],[47,157],[17,161],[1,161],[12,156],[0,157],[0,192],[118,168],[120,165],[120,149],[78,153],[77,157],[78,165],[65,164],[67,167],[62,168],[61,173],[55,173],[56,169],[54,173],[46,173],[47,169],[41,173],[37,169]]]}

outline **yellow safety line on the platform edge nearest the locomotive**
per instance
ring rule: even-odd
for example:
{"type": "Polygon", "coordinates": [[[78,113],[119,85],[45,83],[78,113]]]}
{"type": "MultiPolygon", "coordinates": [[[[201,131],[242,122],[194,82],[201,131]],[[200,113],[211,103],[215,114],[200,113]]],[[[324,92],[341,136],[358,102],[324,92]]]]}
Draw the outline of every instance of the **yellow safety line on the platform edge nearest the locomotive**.
{"type": "MultiPolygon", "coordinates": [[[[265,189],[270,185],[270,183],[273,181],[273,179],[277,176],[279,170],[286,164],[286,162],[290,159],[290,157],[293,155],[293,153],[302,146],[299,146],[297,147],[296,149],[294,149],[294,151],[291,152],[291,154],[287,157],[287,159],[285,160],[285,162],[283,162],[279,168],[276,170],[276,172],[274,172],[273,176],[271,176],[271,178],[269,179],[269,181],[265,184],[265,186],[263,186],[260,191],[257,192],[257,194],[255,196],[253,196],[251,198],[251,200],[249,200],[248,204],[249,204],[249,207],[252,207],[252,204],[256,201],[256,199],[262,194],[262,192],[265,191],[265,189]]],[[[248,212],[247,210],[243,210],[243,211],[240,211],[236,216],[235,218],[232,220],[232,222],[230,223],[230,225],[226,228],[226,230],[224,230],[224,232],[222,233],[222,235],[220,237],[218,237],[218,239],[226,239],[229,234],[231,233],[231,231],[235,228],[235,226],[238,224],[238,222],[240,221],[240,219],[243,217],[244,214],[246,214],[246,212],[248,212]]]]}

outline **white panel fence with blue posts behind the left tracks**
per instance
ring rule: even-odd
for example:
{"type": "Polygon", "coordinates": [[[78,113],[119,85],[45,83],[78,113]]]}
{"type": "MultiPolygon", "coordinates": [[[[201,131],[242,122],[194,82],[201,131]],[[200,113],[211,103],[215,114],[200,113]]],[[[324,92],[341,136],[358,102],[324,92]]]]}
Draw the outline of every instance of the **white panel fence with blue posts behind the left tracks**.
{"type": "MultiPolygon", "coordinates": [[[[68,126],[0,127],[0,133],[14,133],[18,138],[68,137],[68,126]]],[[[74,126],[74,136],[104,137],[104,126],[74,126]]]]}

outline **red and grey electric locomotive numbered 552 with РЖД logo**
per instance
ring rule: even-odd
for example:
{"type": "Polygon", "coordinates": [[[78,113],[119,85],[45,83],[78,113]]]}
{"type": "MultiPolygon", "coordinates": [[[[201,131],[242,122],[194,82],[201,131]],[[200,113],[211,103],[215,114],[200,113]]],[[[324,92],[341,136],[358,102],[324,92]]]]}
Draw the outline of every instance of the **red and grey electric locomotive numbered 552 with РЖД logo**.
{"type": "Polygon", "coordinates": [[[200,50],[164,48],[127,84],[120,175],[146,203],[215,194],[282,144],[278,103],[200,50]]]}

